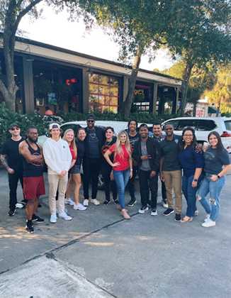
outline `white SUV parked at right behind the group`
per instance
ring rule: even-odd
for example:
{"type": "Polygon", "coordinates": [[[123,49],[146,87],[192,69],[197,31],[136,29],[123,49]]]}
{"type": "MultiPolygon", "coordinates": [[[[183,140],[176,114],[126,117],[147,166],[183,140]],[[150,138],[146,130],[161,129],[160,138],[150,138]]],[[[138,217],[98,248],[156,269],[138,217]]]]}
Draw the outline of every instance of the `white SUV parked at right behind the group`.
{"type": "Polygon", "coordinates": [[[217,131],[220,134],[222,144],[231,153],[231,118],[227,117],[181,117],[164,121],[162,125],[174,126],[174,133],[181,136],[185,127],[191,126],[195,129],[196,139],[199,143],[208,142],[208,133],[217,131]]]}

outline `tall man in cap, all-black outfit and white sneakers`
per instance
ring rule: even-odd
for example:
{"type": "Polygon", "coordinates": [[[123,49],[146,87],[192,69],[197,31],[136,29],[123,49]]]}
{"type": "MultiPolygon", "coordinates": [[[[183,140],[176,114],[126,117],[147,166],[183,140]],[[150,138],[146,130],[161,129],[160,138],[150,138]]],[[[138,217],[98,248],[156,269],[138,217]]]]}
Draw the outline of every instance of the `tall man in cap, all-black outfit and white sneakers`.
{"type": "Polygon", "coordinates": [[[86,120],[86,138],[84,140],[85,153],[83,160],[84,170],[84,206],[89,206],[89,182],[91,182],[91,203],[99,205],[96,199],[98,190],[98,175],[101,169],[101,148],[104,143],[103,128],[95,126],[94,115],[86,120]]]}

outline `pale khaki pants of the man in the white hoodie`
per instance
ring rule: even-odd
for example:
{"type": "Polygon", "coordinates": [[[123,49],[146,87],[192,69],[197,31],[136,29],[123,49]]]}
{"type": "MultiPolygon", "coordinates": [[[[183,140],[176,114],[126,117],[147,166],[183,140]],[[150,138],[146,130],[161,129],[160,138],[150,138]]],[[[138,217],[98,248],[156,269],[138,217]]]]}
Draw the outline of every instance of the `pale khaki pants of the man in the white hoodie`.
{"type": "Polygon", "coordinates": [[[64,198],[67,190],[67,181],[68,175],[65,175],[64,177],[48,175],[50,214],[56,214],[56,204],[58,212],[64,212],[64,198]],[[59,191],[59,197],[56,201],[57,190],[59,191]]]}

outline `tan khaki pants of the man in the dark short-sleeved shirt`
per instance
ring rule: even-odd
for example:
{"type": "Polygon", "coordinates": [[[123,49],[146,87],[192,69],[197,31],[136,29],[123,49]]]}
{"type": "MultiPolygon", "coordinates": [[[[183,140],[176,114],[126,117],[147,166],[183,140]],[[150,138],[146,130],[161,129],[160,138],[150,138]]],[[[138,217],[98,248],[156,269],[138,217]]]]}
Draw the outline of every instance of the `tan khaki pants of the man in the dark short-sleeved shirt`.
{"type": "Polygon", "coordinates": [[[175,212],[180,214],[182,207],[181,170],[163,171],[163,175],[169,208],[175,209],[175,212]],[[175,206],[172,198],[172,189],[174,189],[175,194],[175,206]]]}

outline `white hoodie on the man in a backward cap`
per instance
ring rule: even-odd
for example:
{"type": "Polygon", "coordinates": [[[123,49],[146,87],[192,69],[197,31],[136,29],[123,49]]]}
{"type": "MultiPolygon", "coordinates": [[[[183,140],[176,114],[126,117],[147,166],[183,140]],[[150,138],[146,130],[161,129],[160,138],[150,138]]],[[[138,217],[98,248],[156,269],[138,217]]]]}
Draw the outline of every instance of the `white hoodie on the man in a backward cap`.
{"type": "Polygon", "coordinates": [[[59,175],[64,170],[69,171],[72,154],[66,140],[48,138],[43,145],[43,155],[49,175],[59,175]]]}

